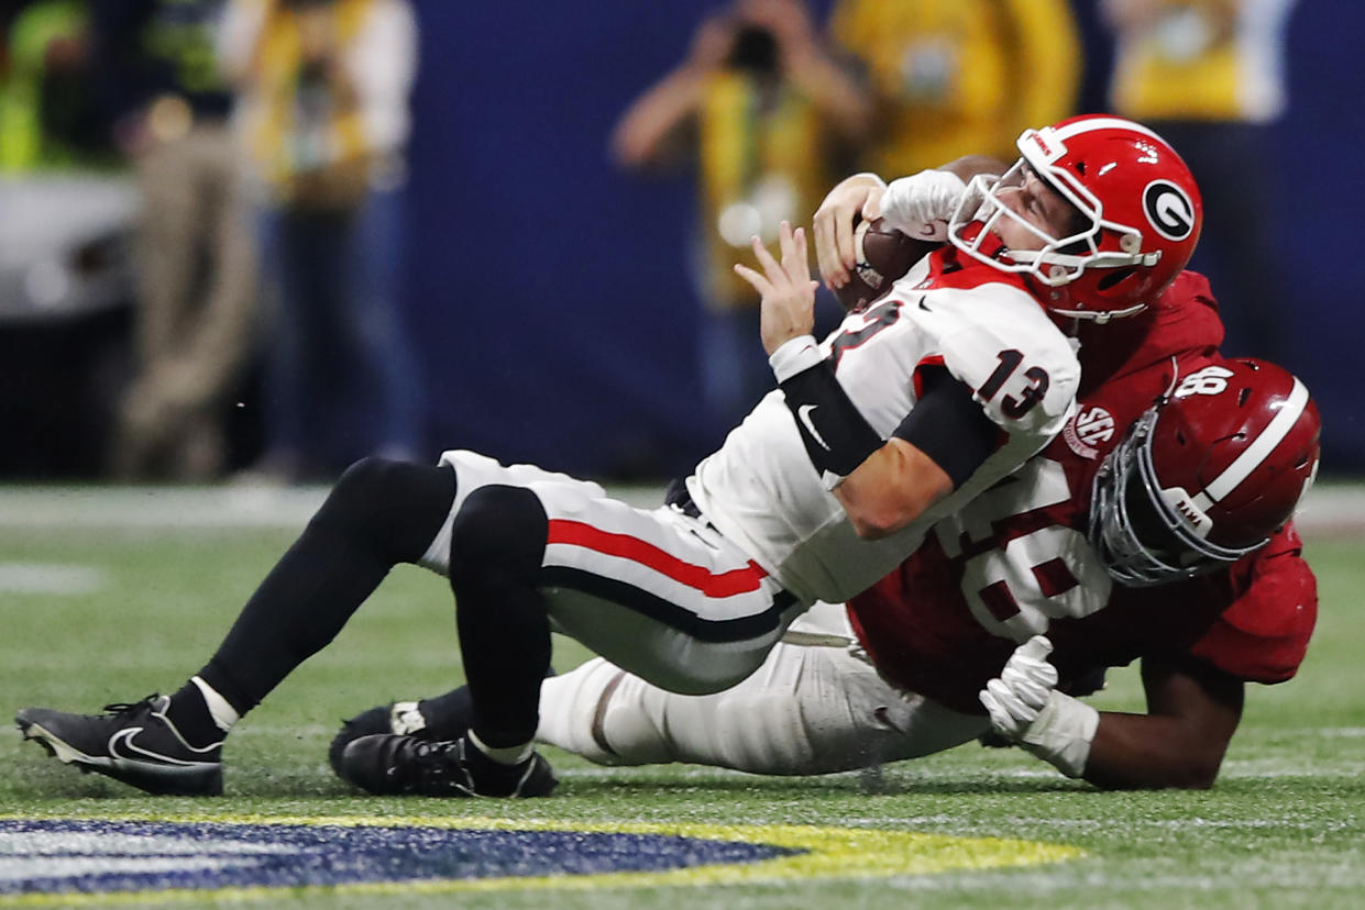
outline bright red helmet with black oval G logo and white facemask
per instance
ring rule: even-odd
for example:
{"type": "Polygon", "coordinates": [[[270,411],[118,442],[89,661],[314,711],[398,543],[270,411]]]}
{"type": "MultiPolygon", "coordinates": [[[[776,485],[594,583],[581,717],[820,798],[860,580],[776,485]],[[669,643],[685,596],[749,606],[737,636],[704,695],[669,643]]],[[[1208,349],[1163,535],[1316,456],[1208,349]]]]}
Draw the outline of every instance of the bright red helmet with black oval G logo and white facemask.
{"type": "Polygon", "coordinates": [[[977,175],[949,221],[949,239],[968,255],[1048,288],[1059,315],[1107,322],[1141,312],[1194,252],[1204,203],[1189,168],[1147,127],[1104,115],[1025,130],[1018,162],[1005,176],[977,175]],[[1077,228],[1054,237],[999,201],[1029,173],[1078,213],[1077,228]],[[999,218],[1036,235],[1039,250],[998,252],[983,246],[999,218]],[[984,228],[975,228],[984,222],[984,228]]]}

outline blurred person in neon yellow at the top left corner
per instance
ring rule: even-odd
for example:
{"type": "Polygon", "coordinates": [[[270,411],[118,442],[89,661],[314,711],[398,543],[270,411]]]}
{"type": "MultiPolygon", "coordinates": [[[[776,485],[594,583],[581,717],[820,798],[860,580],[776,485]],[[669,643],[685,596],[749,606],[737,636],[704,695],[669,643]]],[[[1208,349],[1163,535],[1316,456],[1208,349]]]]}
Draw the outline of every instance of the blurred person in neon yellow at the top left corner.
{"type": "Polygon", "coordinates": [[[0,173],[108,165],[86,0],[0,7],[0,173]]]}

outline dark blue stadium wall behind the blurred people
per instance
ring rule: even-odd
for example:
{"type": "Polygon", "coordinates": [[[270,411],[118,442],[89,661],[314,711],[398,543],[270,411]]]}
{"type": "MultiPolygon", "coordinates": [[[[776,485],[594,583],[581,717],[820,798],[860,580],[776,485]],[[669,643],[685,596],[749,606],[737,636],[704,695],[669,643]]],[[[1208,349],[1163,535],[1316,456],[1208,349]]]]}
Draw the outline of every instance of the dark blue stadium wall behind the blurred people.
{"type": "MultiPolygon", "coordinates": [[[[408,307],[434,390],[434,446],[661,476],[718,442],[696,405],[688,176],[632,177],[606,150],[616,117],[684,56],[714,5],[418,0],[408,307]]],[[[1082,25],[1103,60],[1089,15],[1082,25]]],[[[1279,150],[1298,162],[1278,188],[1297,282],[1284,330],[1298,353],[1286,366],[1323,405],[1331,472],[1365,472],[1354,392],[1365,228],[1343,206],[1365,199],[1346,160],[1365,147],[1351,101],[1362,33],[1365,5],[1298,5],[1279,150]]],[[[1097,97],[1095,61],[1087,100],[1097,97]]]]}

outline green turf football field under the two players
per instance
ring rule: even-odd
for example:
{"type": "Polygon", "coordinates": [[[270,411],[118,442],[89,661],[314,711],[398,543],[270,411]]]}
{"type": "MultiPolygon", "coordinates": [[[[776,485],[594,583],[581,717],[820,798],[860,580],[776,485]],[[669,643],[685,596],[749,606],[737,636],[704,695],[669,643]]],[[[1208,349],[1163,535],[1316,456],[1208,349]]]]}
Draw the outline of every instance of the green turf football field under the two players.
{"type": "MultiPolygon", "coordinates": [[[[1346,493],[1358,491],[1327,487],[1314,495],[1346,493]]],[[[302,527],[308,505],[304,495],[283,517],[240,527],[214,501],[167,499],[158,491],[0,491],[0,708],[7,716],[27,704],[94,711],[106,701],[175,689],[212,652],[302,527]],[[220,512],[224,520],[213,520],[220,512]]],[[[1365,539],[1340,528],[1310,532],[1308,558],[1321,593],[1308,660],[1286,685],[1252,688],[1222,778],[1208,793],[1099,793],[1024,753],[965,746],[886,768],[880,779],[763,779],[693,767],[606,769],[551,752],[562,780],[551,799],[359,798],[326,765],[337,720],[460,681],[445,584],[404,568],[329,649],[243,722],[228,745],[224,798],[143,797],[104,778],[81,776],[11,731],[0,738],[0,814],[382,817],[389,824],[461,816],[487,825],[809,825],[871,835],[853,838],[811,873],[824,876],[815,879],[800,877],[807,873],[797,869],[792,877],[762,881],[702,875],[682,884],[592,880],[551,891],[545,888],[553,881],[494,892],[283,891],[235,895],[261,902],[238,906],[1361,907],[1365,539]],[[882,831],[940,836],[886,846],[876,834],[882,831]],[[890,853],[879,858],[883,849],[890,853]]],[[[558,647],[560,667],[583,658],[572,643],[558,647]]],[[[1096,704],[1143,709],[1136,671],[1111,673],[1096,704]]],[[[774,830],[771,839],[784,836],[834,845],[845,835],[774,830]]],[[[0,839],[0,847],[4,843],[0,839]]],[[[0,879],[14,868],[0,857],[0,879]]],[[[173,900],[212,903],[192,895],[173,900]]],[[[150,902],[136,895],[124,906],[150,902]]],[[[15,905],[63,900],[0,891],[0,907],[15,905]]]]}

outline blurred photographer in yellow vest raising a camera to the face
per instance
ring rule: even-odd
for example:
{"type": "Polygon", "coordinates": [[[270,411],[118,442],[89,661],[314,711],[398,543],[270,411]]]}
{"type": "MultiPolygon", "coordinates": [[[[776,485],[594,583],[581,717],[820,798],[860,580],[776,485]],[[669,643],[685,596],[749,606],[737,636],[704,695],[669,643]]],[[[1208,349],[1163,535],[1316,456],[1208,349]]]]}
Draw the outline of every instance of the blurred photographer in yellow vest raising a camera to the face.
{"type": "Polygon", "coordinates": [[[753,235],[773,243],[784,220],[809,221],[834,156],[863,135],[868,113],[803,0],[738,0],[702,22],[687,59],[617,124],[622,166],[688,161],[698,169],[699,355],[718,432],[773,387],[759,297],[732,266],[753,265],[753,235]]]}

